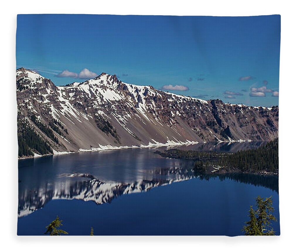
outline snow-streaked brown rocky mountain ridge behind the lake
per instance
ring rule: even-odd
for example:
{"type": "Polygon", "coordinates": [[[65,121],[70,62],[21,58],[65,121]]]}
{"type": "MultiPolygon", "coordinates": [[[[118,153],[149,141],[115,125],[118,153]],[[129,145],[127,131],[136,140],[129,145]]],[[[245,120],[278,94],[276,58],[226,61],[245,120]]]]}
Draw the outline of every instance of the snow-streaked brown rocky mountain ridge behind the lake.
{"type": "Polygon", "coordinates": [[[105,73],[55,86],[20,68],[16,91],[19,142],[29,150],[24,156],[278,136],[277,107],[204,101],[126,84],[105,73]],[[28,135],[33,137],[28,140],[28,135]]]}

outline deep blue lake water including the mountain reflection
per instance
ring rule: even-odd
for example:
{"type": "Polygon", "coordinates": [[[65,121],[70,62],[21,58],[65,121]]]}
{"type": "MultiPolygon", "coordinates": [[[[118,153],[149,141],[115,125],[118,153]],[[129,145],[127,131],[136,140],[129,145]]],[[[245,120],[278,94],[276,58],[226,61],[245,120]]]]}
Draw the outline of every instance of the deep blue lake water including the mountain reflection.
{"type": "Polygon", "coordinates": [[[194,174],[153,151],[20,160],[18,235],[42,235],[57,215],[70,235],[243,235],[258,195],[273,196],[280,219],[277,177],[194,174]]]}

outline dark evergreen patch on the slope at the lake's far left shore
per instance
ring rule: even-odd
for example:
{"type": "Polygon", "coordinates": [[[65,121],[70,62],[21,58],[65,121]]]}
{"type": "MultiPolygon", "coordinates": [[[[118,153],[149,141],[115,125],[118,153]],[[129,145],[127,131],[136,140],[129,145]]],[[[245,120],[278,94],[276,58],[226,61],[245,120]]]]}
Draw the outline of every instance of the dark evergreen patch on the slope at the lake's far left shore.
{"type": "Polygon", "coordinates": [[[18,156],[33,156],[36,150],[40,154],[52,153],[51,147],[24,122],[18,122],[18,156]]]}

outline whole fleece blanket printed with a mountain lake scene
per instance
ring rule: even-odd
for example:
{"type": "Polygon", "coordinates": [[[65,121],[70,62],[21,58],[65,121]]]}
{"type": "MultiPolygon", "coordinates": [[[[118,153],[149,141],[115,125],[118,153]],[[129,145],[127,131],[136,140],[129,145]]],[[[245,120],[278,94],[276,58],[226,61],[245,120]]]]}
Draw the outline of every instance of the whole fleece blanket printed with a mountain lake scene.
{"type": "Polygon", "coordinates": [[[280,16],[17,16],[18,235],[280,235],[280,16]]]}

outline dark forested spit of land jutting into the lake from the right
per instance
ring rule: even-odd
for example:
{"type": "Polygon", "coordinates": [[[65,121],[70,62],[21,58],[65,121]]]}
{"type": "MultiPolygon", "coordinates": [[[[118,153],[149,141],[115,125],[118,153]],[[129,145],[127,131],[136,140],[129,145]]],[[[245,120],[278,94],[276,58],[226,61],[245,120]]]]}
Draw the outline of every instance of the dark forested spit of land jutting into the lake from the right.
{"type": "Polygon", "coordinates": [[[206,173],[279,174],[278,138],[258,147],[235,153],[184,151],[178,149],[156,151],[163,157],[195,160],[194,170],[206,173]]]}

